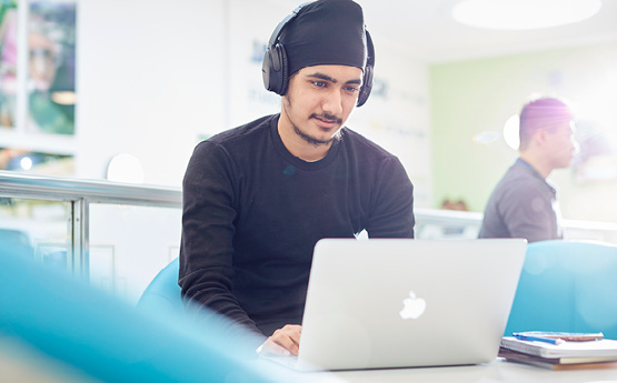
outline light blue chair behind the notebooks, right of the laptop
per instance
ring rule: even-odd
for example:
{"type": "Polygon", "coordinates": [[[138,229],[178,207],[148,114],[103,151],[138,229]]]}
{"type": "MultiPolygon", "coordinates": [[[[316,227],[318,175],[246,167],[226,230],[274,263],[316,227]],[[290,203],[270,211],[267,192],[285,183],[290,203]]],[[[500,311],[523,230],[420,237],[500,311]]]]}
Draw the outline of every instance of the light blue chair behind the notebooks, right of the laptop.
{"type": "Polygon", "coordinates": [[[529,243],[505,335],[518,331],[603,332],[617,339],[617,246],[529,243]]]}

